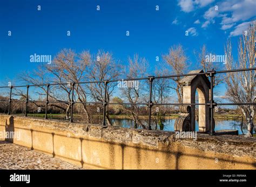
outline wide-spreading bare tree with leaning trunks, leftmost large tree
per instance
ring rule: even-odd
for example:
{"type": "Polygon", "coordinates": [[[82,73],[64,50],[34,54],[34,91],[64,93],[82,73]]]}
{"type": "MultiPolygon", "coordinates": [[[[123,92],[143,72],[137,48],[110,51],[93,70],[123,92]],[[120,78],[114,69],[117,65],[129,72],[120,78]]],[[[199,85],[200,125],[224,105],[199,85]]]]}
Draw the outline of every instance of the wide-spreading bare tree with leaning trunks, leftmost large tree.
{"type": "MultiPolygon", "coordinates": [[[[52,64],[42,64],[37,70],[32,73],[23,73],[20,79],[27,84],[46,84],[53,83],[49,88],[50,106],[58,107],[65,112],[65,118],[69,119],[70,108],[72,105],[72,82],[80,82],[84,80],[86,67],[90,62],[89,52],[82,52],[77,55],[71,49],[63,49],[60,51],[52,64]],[[66,83],[70,84],[66,84],[66,83]],[[55,103],[59,102],[59,103],[55,103]]],[[[37,94],[45,96],[47,88],[45,85],[39,85],[37,94]],[[43,91],[43,92],[42,92],[43,91]]],[[[82,85],[76,84],[76,97],[80,102],[86,102],[86,93],[82,89],[82,85]]],[[[24,94],[21,92],[21,96],[24,94]]],[[[86,105],[83,104],[87,120],[90,119],[89,113],[86,110],[86,105]]]]}

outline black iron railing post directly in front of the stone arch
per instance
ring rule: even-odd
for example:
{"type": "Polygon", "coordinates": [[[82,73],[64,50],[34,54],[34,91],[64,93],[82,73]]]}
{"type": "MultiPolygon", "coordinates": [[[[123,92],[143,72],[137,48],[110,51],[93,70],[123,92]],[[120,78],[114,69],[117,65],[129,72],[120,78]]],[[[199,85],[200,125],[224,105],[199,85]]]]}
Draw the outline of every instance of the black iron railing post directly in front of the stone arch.
{"type": "Polygon", "coordinates": [[[207,72],[211,78],[211,98],[210,98],[210,117],[211,117],[211,124],[210,124],[210,135],[214,135],[214,126],[213,126],[213,112],[214,112],[214,107],[217,105],[217,103],[214,102],[213,100],[213,78],[216,73],[215,70],[211,70],[207,72]]]}

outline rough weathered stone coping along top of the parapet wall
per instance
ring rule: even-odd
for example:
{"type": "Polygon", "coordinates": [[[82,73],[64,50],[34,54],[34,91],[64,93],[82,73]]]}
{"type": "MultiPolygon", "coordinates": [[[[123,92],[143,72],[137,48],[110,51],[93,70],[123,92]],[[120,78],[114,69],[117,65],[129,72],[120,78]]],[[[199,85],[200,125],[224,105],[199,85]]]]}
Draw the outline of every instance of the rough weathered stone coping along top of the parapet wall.
{"type": "MultiPolygon", "coordinates": [[[[0,115],[0,118],[8,115],[0,115]]],[[[69,121],[59,120],[45,120],[25,117],[14,117],[19,123],[30,127],[36,124],[39,127],[47,127],[58,131],[68,131],[79,135],[89,135],[93,138],[103,138],[106,141],[113,141],[117,143],[136,143],[144,146],[158,148],[159,144],[163,146],[170,146],[170,142],[180,142],[184,146],[199,148],[201,150],[212,150],[214,152],[229,153],[234,155],[250,154],[256,157],[253,148],[256,147],[255,138],[245,138],[238,135],[216,135],[210,136],[203,133],[197,134],[197,141],[192,139],[176,139],[174,132],[164,131],[148,131],[148,130],[134,130],[129,128],[120,128],[113,126],[102,125],[87,125],[82,123],[69,123],[69,121]],[[39,123],[37,123],[39,122],[39,123]],[[206,146],[207,145],[207,146],[206,146]]]]}

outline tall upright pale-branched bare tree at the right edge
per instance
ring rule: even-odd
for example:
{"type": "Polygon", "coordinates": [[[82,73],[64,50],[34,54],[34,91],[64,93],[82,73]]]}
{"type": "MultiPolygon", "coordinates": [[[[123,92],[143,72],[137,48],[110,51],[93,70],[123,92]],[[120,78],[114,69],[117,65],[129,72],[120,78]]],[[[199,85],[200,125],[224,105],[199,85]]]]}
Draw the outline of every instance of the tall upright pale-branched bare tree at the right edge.
{"type": "MultiPolygon", "coordinates": [[[[243,34],[239,39],[238,61],[233,59],[231,41],[227,41],[225,54],[227,56],[226,68],[244,69],[255,67],[255,24],[248,28],[247,34],[243,34]]],[[[233,103],[255,103],[256,71],[240,71],[227,73],[225,78],[228,100],[233,103]]],[[[247,121],[247,134],[252,136],[253,118],[255,114],[255,105],[239,105],[247,121]]]]}

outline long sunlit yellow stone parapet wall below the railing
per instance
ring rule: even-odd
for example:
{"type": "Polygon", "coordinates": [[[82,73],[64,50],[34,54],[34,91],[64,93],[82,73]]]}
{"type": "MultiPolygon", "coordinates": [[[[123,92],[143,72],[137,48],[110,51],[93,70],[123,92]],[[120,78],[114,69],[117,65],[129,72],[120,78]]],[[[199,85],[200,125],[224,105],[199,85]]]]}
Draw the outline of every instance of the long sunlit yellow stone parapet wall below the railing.
{"type": "Polygon", "coordinates": [[[86,169],[256,169],[256,139],[237,135],[178,139],[174,132],[1,114],[5,131],[20,135],[8,141],[86,169]]]}

